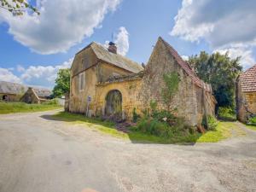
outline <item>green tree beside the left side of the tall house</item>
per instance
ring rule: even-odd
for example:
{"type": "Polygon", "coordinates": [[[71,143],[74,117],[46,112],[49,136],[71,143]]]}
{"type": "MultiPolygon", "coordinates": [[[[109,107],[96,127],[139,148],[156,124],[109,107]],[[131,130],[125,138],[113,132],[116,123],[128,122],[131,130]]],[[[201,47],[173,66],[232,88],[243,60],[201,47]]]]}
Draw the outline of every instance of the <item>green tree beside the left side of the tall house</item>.
{"type": "Polygon", "coordinates": [[[53,89],[53,96],[63,96],[69,93],[70,89],[70,69],[60,69],[57,78],[55,79],[55,87],[53,89]]]}

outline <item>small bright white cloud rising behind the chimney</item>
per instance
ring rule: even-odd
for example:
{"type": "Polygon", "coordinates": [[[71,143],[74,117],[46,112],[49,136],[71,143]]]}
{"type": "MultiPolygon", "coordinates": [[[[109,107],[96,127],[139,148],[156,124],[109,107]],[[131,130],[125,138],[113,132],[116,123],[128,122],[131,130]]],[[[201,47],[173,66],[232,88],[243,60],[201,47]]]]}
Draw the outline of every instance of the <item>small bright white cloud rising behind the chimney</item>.
{"type": "MultiPolygon", "coordinates": [[[[119,55],[126,55],[129,50],[129,32],[125,29],[125,26],[119,27],[119,32],[115,35],[113,42],[117,46],[119,55]]],[[[105,41],[104,47],[108,48],[109,41],[105,41]]]]}

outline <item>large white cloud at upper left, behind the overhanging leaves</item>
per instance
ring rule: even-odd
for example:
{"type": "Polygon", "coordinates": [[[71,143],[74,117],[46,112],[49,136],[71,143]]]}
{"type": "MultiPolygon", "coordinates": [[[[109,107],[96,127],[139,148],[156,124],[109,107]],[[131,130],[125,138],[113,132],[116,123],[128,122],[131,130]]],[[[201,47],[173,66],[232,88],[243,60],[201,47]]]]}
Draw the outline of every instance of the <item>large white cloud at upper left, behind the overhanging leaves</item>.
{"type": "Polygon", "coordinates": [[[0,21],[9,24],[9,33],[40,54],[65,52],[101,27],[104,16],[117,8],[121,0],[41,0],[40,15],[25,13],[13,17],[0,12],[0,21]]]}

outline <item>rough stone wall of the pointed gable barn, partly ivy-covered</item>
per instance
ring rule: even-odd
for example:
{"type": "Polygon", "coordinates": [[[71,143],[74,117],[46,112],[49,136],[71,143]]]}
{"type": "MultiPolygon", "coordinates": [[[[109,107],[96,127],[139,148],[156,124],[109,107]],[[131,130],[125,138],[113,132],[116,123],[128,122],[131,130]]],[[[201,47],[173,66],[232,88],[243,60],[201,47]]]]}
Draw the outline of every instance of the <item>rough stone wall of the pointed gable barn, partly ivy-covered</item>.
{"type": "Polygon", "coordinates": [[[214,107],[212,94],[202,90],[192,81],[173,55],[170,54],[170,51],[166,49],[166,45],[161,43],[161,41],[158,41],[155,45],[148,65],[145,68],[142,90],[140,92],[140,101],[143,102],[143,107],[148,107],[150,101],[155,101],[160,109],[169,110],[163,101],[161,91],[165,87],[163,75],[172,72],[178,73],[180,82],[177,93],[172,99],[172,103],[170,103],[170,110],[174,111],[177,116],[183,117],[189,125],[201,124],[202,115],[205,110],[207,110],[208,114],[214,115],[214,110],[210,109],[214,107]],[[205,96],[206,109],[201,104],[203,103],[203,94],[205,96]]]}

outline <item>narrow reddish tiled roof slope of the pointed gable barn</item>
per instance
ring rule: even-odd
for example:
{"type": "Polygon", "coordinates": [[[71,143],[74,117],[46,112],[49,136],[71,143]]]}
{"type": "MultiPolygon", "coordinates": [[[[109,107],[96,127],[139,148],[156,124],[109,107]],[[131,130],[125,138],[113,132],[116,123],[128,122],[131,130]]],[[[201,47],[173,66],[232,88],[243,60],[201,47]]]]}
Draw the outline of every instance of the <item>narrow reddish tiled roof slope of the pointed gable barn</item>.
{"type": "Polygon", "coordinates": [[[192,68],[189,66],[189,64],[186,61],[183,61],[182,57],[178,55],[177,51],[172,48],[170,44],[168,44],[164,39],[159,38],[160,41],[162,41],[166,48],[170,51],[174,59],[177,61],[177,64],[183,68],[185,73],[189,75],[189,77],[193,80],[195,84],[197,84],[201,88],[205,88],[207,91],[211,91],[211,85],[205,83],[203,80],[199,79],[196,74],[193,72],[192,68]]]}

